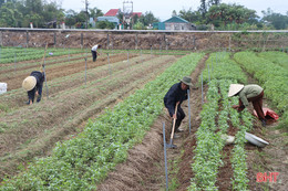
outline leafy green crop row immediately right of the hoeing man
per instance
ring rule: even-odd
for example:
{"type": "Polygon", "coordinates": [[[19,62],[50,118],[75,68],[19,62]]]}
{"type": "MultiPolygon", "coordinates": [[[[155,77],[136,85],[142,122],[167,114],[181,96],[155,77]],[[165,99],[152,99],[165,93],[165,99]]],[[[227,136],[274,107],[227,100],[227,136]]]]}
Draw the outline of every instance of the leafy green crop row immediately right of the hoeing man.
{"type": "Polygon", "coordinates": [[[200,113],[202,124],[196,132],[197,147],[194,150],[195,157],[192,163],[194,178],[192,179],[189,190],[216,190],[216,180],[218,168],[222,165],[220,151],[225,145],[222,135],[225,131],[215,131],[218,129],[215,118],[218,112],[217,81],[212,81],[207,93],[208,103],[203,106],[200,113]]]}

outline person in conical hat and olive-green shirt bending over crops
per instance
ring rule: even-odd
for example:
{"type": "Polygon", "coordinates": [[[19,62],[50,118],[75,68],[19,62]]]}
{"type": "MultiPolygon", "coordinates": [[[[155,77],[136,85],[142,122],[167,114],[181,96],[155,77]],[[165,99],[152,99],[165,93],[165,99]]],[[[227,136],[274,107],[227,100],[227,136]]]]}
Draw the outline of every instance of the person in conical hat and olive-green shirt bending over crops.
{"type": "Polygon", "coordinates": [[[245,109],[245,107],[248,107],[248,102],[251,102],[259,120],[261,120],[264,127],[266,126],[266,119],[263,112],[263,87],[256,84],[230,84],[228,97],[232,96],[239,96],[239,105],[233,106],[233,108],[237,109],[238,112],[241,112],[245,109]]]}

